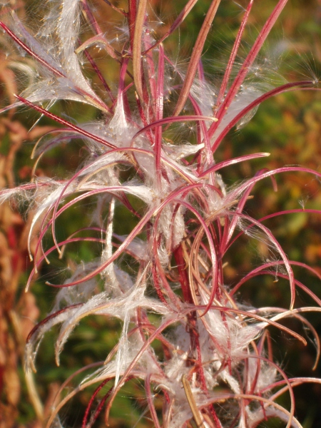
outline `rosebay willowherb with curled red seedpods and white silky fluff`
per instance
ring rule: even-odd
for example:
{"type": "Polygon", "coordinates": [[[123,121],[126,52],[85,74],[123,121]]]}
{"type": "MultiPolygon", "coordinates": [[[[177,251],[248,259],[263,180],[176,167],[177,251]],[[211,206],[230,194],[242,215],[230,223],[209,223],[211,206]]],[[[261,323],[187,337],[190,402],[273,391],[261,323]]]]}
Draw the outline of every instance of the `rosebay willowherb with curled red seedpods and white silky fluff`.
{"type": "Polygon", "coordinates": [[[297,171],[319,179],[321,173],[299,166],[261,169],[229,188],[220,170],[269,153],[215,163],[215,152],[228,131],[244,126],[260,103],[285,91],[314,88],[316,82],[271,78],[268,63],[257,62],[286,0],[275,1],[240,62],[238,51],[254,1],[245,4],[228,63],[215,76],[215,84],[205,78],[201,62],[220,6],[219,0],[211,1],[187,66],[178,66],[164,46],[196,3],[186,1],[173,23],[162,27],[146,0],[129,0],[124,9],[107,0],[47,1],[37,32],[21,23],[10,3],[3,6],[0,25],[29,58],[21,58],[27,88],[4,111],[26,106],[59,125],[36,144],[37,164],[46,152],[79,139],[86,153],[67,178],[34,174],[31,183],[1,193],[2,200],[28,200],[33,213],[29,240],[35,234],[38,238],[36,245],[29,245],[34,268],[27,289],[45,261],[56,255],[67,263],[68,248],[92,243],[101,250],[86,263],[73,261],[68,279],[60,281],[57,273],[56,281],[48,282],[58,288],[54,309],[29,334],[26,370],[35,370],[39,344],[54,325],[61,325],[55,349],[58,364],[63,345],[84,317],[121,320],[120,337],[106,360],[81,370],[89,374],[56,400],[49,427],[59,426],[63,406],[91,385],[96,389],[83,427],[91,427],[103,412],[108,424],[116,396],[133,379],[143,383],[144,416],[151,426],[187,427],[195,422],[198,427],[254,428],[277,418],[287,427],[301,427],[295,418],[293,387],[320,383],[316,378],[288,377],[273,360],[268,332],[275,327],[306,344],[282,323],[294,317],[312,332],[318,359],[319,340],[304,314],[320,311],[321,300],[295,279],[292,268],[299,265],[319,280],[320,274],[289,260],[263,222],[295,210],[257,219],[246,213],[245,204],[255,185],[266,178],[275,184],[280,173],[297,171]],[[96,55],[97,47],[105,52],[107,66],[96,55]],[[267,78],[264,71],[257,76],[258,68],[265,66],[267,78]],[[66,103],[60,100],[92,108],[96,119],[76,123],[63,112],[66,103]],[[56,103],[59,109],[52,113],[56,103]],[[61,219],[73,217],[73,208],[83,213],[83,204],[90,216],[81,228],[61,238],[61,219]],[[116,233],[120,212],[127,215],[126,227],[131,226],[127,235],[116,233]],[[263,241],[272,258],[227,287],[225,260],[243,235],[263,241]],[[287,308],[256,308],[242,302],[245,283],[253,278],[260,283],[261,275],[288,281],[287,308]],[[315,306],[298,307],[297,290],[315,306]],[[156,347],[156,342],[161,345],[156,347]],[[290,397],[288,408],[278,400],[282,394],[290,397]]]}

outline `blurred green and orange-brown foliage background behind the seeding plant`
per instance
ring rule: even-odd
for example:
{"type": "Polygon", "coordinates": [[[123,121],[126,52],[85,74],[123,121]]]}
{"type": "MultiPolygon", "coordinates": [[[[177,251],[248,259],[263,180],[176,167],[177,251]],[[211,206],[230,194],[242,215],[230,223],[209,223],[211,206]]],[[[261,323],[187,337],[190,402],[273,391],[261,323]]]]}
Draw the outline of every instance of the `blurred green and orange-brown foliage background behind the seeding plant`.
{"type": "MultiPolygon", "coordinates": [[[[103,0],[96,0],[96,9],[101,11],[101,26],[108,30],[116,19],[115,12],[103,0]]],[[[39,22],[39,12],[35,12],[37,1],[12,1],[20,18],[32,29],[39,22]]],[[[178,15],[184,1],[151,1],[155,11],[156,33],[165,31],[178,15]],[[163,24],[161,24],[161,21],[163,24]],[[158,27],[161,29],[158,30],[158,27]]],[[[200,25],[209,0],[200,0],[192,13],[165,44],[171,57],[177,57],[184,66],[190,56],[193,42],[198,36],[200,25]]],[[[246,2],[223,0],[215,17],[204,51],[205,75],[218,85],[223,76],[224,64],[228,60],[231,46],[243,16],[246,2]]],[[[276,0],[257,1],[250,18],[250,28],[245,32],[245,40],[240,49],[240,58],[245,58],[255,36],[269,16],[276,0]],[[242,57],[243,55],[243,57],[242,57]]],[[[125,2],[118,1],[117,6],[126,9],[125,2]],[[124,4],[123,4],[124,3],[124,4]]],[[[111,61],[101,51],[93,52],[103,75],[111,88],[116,90],[117,71],[111,67],[111,61]]],[[[14,102],[13,93],[24,88],[24,67],[30,65],[31,58],[19,59],[19,52],[14,49],[3,34],[0,35],[0,103],[1,107],[14,102]]],[[[317,0],[290,0],[275,29],[269,36],[258,61],[257,74],[252,84],[273,84],[282,82],[284,76],[288,81],[315,80],[321,76],[321,3],[317,0]],[[259,83],[260,82],[260,83],[259,83]]],[[[96,76],[88,68],[88,77],[93,78],[93,85],[101,91],[96,76]]],[[[56,103],[52,111],[61,111],[73,121],[86,122],[96,117],[93,108],[84,108],[72,103],[56,103]]],[[[305,165],[321,172],[321,94],[314,90],[295,91],[282,94],[265,101],[255,113],[252,120],[231,131],[215,154],[216,161],[242,156],[246,153],[269,152],[270,158],[233,165],[223,170],[223,180],[227,185],[250,177],[261,168],[279,168],[283,165],[305,165]]],[[[26,108],[18,108],[0,116],[0,187],[14,187],[31,179],[34,161],[30,156],[34,141],[56,125],[47,118],[26,108]],[[31,129],[32,127],[32,129],[31,129]],[[28,132],[31,129],[30,132],[28,132]]],[[[188,128],[184,131],[188,141],[188,128]]],[[[193,138],[191,136],[190,138],[193,138]]],[[[81,141],[63,144],[49,151],[36,166],[36,175],[49,177],[66,177],[77,168],[86,157],[81,141]]],[[[254,218],[261,218],[269,213],[295,208],[321,209],[320,180],[303,173],[287,173],[277,176],[278,189],[275,192],[272,183],[265,180],[258,184],[248,201],[247,211],[254,218]]],[[[52,258],[50,265],[43,265],[34,278],[29,292],[24,292],[24,285],[31,270],[31,263],[26,248],[26,236],[30,226],[31,213],[22,204],[4,203],[0,205],[0,428],[40,428],[48,417],[54,397],[63,382],[76,370],[85,365],[105,360],[106,355],[116,344],[121,325],[117,320],[104,317],[89,317],[83,320],[68,340],[61,354],[61,365],[54,362],[54,341],[58,330],[54,328],[41,343],[37,357],[37,372],[25,377],[23,370],[24,344],[30,330],[52,309],[56,290],[45,284],[47,280],[58,281],[68,276],[66,263],[52,258]]],[[[131,219],[128,213],[118,210],[119,223],[115,225],[118,233],[128,233],[131,219]]],[[[83,219],[90,221],[89,205],[78,206],[77,210],[61,218],[58,238],[68,236],[76,228],[81,228],[83,219]]],[[[277,240],[281,243],[290,260],[307,263],[321,275],[321,218],[318,215],[298,213],[275,217],[265,222],[277,240]]],[[[34,244],[34,243],[33,243],[34,244]]],[[[92,260],[98,254],[98,248],[82,245],[68,250],[65,260],[72,266],[81,260],[92,260]]],[[[250,267],[259,263],[260,257],[268,260],[270,251],[264,243],[256,243],[248,237],[242,237],[235,243],[226,267],[226,285],[233,285],[250,267]]],[[[126,263],[126,260],[123,261],[126,263]]],[[[295,267],[295,275],[310,289],[321,297],[321,282],[307,273],[302,267],[295,267]]],[[[288,307],[290,292],[285,280],[273,281],[269,277],[257,277],[243,286],[239,299],[254,306],[288,307]]],[[[311,305],[312,300],[303,292],[298,292],[297,305],[311,305]]],[[[321,333],[321,315],[310,314],[307,319],[312,322],[318,334],[321,333]]],[[[287,327],[306,335],[302,325],[295,320],[288,320],[287,327]]],[[[270,330],[272,350],[275,361],[290,377],[321,377],[321,365],[312,371],[316,350],[312,340],[303,347],[292,337],[270,330]]],[[[311,339],[311,337],[310,337],[311,339]]],[[[157,352],[157,344],[156,344],[157,352]]],[[[83,377],[77,374],[68,384],[76,387],[83,377]]],[[[80,427],[86,404],[93,389],[86,389],[66,405],[61,412],[63,427],[80,427]]],[[[295,388],[296,416],[304,428],[321,427],[321,386],[306,384],[295,388]]],[[[280,399],[287,404],[287,397],[280,399]]],[[[161,410],[161,397],[156,399],[156,408],[161,410]],[[159,406],[158,406],[159,404],[159,406]]],[[[153,424],[146,411],[146,398],[143,384],[128,382],[121,395],[116,399],[111,412],[111,427],[147,428],[153,424]]],[[[98,419],[95,427],[103,427],[103,418],[98,419]]],[[[284,427],[285,424],[272,421],[260,427],[284,427]]]]}

